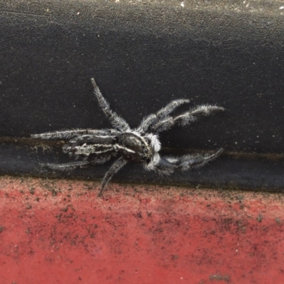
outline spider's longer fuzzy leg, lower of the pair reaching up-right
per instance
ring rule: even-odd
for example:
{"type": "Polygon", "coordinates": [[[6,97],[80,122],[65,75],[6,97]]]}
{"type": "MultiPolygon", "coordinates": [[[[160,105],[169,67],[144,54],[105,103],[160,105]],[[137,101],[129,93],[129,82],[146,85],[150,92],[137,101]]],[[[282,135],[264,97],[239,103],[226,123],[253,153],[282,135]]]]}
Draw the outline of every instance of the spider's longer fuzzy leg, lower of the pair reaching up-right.
{"type": "Polygon", "coordinates": [[[215,111],[224,111],[223,107],[210,106],[208,104],[195,107],[190,109],[190,111],[185,111],[185,113],[178,116],[166,116],[164,119],[160,119],[152,126],[152,131],[154,134],[160,133],[162,131],[170,129],[170,127],[175,124],[185,126],[193,121],[196,121],[199,116],[208,116],[215,111]]]}

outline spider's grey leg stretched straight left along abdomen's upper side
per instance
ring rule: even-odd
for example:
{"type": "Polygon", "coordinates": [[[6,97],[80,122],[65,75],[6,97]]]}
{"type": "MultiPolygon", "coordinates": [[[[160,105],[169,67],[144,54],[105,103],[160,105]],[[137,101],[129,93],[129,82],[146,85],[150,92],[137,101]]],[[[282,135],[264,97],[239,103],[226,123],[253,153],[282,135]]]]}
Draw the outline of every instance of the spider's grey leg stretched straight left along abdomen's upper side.
{"type": "Polygon", "coordinates": [[[74,130],[65,130],[65,131],[53,131],[53,132],[45,132],[40,134],[32,134],[31,138],[40,138],[43,140],[70,140],[77,136],[91,134],[97,136],[110,136],[115,132],[112,129],[74,129],[74,130]]]}

